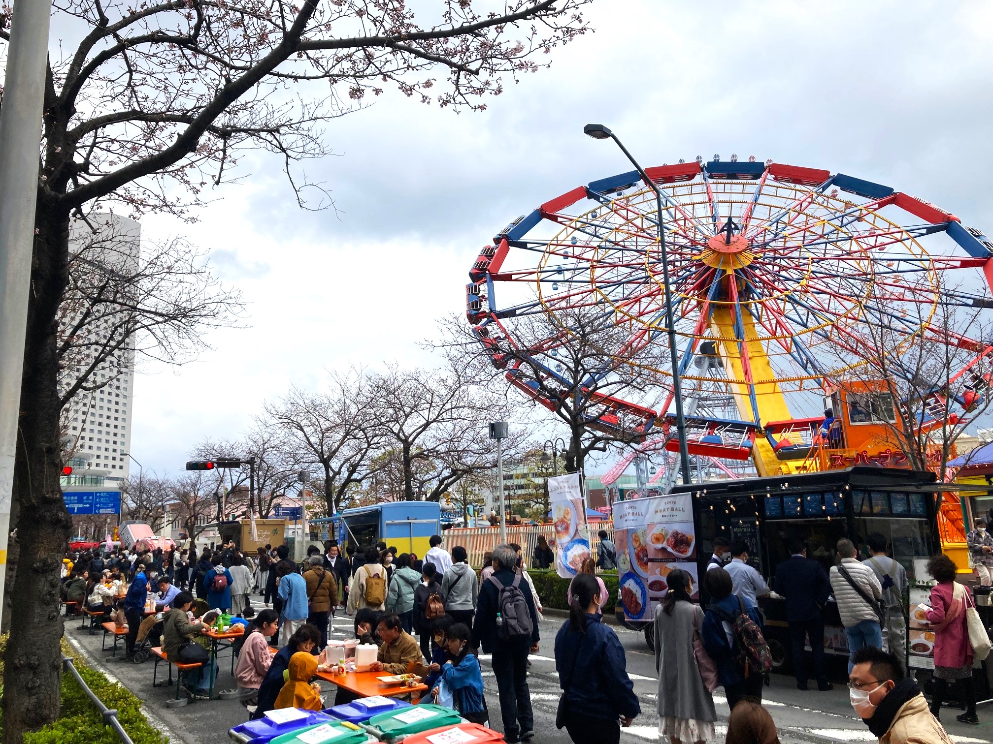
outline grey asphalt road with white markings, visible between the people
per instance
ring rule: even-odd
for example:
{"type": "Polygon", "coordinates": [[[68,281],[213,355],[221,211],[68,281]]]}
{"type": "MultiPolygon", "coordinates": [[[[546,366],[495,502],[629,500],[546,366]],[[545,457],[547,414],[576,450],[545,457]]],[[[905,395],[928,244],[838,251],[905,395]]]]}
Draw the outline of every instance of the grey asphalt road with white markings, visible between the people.
{"type": "MultiPolygon", "coordinates": [[[[259,606],[261,597],[253,596],[252,599],[253,603],[259,606]]],[[[552,643],[561,622],[559,618],[549,617],[542,623],[541,648],[537,654],[531,656],[528,683],[534,706],[535,744],[569,742],[565,730],[559,731],[555,728],[559,686],[555,661],[552,658],[552,643]]],[[[334,624],[336,638],[351,636],[353,623],[350,618],[344,614],[340,615],[334,624]]],[[[641,703],[641,715],[630,728],[623,730],[622,741],[628,744],[657,741],[659,737],[658,716],[655,713],[657,682],[654,657],[648,652],[639,633],[618,627],[614,627],[614,630],[627,652],[628,672],[635,682],[635,691],[641,703]]],[[[175,685],[152,686],[154,659],[141,665],[111,660],[109,651],[100,651],[100,634],[88,635],[86,631],[78,629],[78,622],[67,625],[67,636],[73,645],[90,658],[92,666],[113,676],[141,697],[145,701],[152,722],[161,726],[173,742],[213,744],[227,741],[227,729],[246,719],[244,708],[236,700],[201,700],[185,707],[168,708],[166,700],[175,693],[175,685]]],[[[123,657],[123,643],[118,647],[117,657],[118,659],[123,657]]],[[[489,669],[489,658],[484,655],[481,661],[487,687],[487,702],[491,712],[491,726],[501,730],[497,683],[493,672],[489,669]]],[[[233,688],[235,684],[230,673],[230,657],[222,655],[218,660],[218,666],[217,688],[233,688]]],[[[160,664],[159,673],[159,680],[164,681],[168,675],[164,664],[160,664]]],[[[333,704],[334,685],[330,682],[325,682],[324,685],[328,690],[329,705],[333,704]]],[[[717,702],[717,713],[720,718],[718,740],[723,741],[725,732],[723,724],[727,720],[728,707],[720,691],[718,689],[714,699],[717,702]]],[[[772,684],[765,688],[764,701],[780,729],[780,741],[783,744],[875,741],[875,737],[865,724],[855,717],[848,703],[848,690],[841,684],[835,685],[835,689],[828,692],[819,692],[816,689],[801,692],[795,688],[795,681],[792,678],[774,675],[772,684]]],[[[942,722],[957,744],[982,744],[993,741],[993,705],[980,707],[979,726],[958,723],[954,720],[957,712],[948,709],[942,713],[942,718],[945,719],[942,722]]]]}

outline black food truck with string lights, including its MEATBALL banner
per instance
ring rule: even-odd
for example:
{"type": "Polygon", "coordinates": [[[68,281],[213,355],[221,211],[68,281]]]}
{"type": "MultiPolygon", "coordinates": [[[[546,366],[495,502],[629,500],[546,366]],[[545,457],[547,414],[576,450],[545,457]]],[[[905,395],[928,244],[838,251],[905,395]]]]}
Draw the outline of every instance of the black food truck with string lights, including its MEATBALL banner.
{"type": "MultiPolygon", "coordinates": [[[[856,465],[679,485],[665,496],[618,502],[614,530],[626,619],[643,623],[652,616],[654,604],[665,594],[665,575],[674,567],[689,571],[693,598],[706,604],[699,579],[718,536],[747,542],[750,562],[775,588],[776,567],[789,558],[791,541],[802,541],[807,557],[828,571],[838,540],[849,538],[860,549],[860,558],[868,558],[865,540],[880,533],[893,557],[907,569],[911,588],[905,601],[915,607],[927,598],[932,584],[924,570],[927,558],[941,550],[935,502],[960,488],[936,482],[930,472],[856,465]]],[[[785,600],[773,595],[759,603],[774,669],[785,672],[793,661],[785,600]]],[[[652,640],[648,633],[646,639],[652,640]]],[[[908,647],[909,667],[933,668],[933,638],[913,617],[908,647]]],[[[837,657],[839,665],[848,656],[847,637],[833,600],[824,608],[824,650],[837,657]]]]}

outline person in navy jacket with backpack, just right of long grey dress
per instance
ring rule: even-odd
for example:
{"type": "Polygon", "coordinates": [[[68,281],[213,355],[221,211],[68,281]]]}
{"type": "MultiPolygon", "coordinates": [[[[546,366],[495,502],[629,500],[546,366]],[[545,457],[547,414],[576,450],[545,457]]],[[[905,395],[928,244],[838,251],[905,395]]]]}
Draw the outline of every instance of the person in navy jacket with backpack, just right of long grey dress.
{"type": "Polygon", "coordinates": [[[710,606],[700,636],[717,666],[728,707],[734,710],[746,697],[762,702],[762,684],[772,667],[772,656],[762,635],[759,608],[732,592],[734,583],[724,568],[708,570],[703,586],[710,594],[710,606]]]}

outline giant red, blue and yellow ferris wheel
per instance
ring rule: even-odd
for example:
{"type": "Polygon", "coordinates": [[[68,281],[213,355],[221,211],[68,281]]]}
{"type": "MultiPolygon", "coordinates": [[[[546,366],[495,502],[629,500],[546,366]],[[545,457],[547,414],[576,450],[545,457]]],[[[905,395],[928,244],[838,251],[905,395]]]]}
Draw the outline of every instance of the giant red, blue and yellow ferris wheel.
{"type": "Polygon", "coordinates": [[[978,370],[987,367],[974,362],[993,356],[990,339],[936,327],[947,310],[993,308],[993,242],[979,230],[921,198],[827,170],[714,156],[645,173],[659,186],[661,215],[637,171],[594,181],[513,220],[470,271],[474,333],[538,403],[548,404],[536,376],[579,382],[556,357],[568,318],[583,309],[618,329],[631,364],[669,386],[660,410],[611,398],[593,425],[634,426],[649,440],[670,432],[659,217],[692,453],[782,471],[790,449],[817,438],[838,380],[866,364],[872,328],[897,337],[897,358],[901,343],[938,334],[973,355],[956,372],[968,379],[966,400],[942,399],[935,417],[986,394],[990,376],[978,370]],[[515,323],[534,315],[554,330],[519,337],[515,323]]]}

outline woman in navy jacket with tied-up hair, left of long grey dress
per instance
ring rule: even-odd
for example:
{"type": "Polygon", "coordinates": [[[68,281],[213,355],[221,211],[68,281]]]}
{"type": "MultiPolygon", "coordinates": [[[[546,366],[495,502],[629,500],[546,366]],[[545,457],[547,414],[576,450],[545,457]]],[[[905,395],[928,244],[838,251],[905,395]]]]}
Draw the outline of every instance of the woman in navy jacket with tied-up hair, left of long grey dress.
{"type": "MultiPolygon", "coordinates": [[[[555,669],[562,687],[555,725],[564,726],[575,744],[618,744],[621,726],[630,726],[641,712],[624,647],[602,622],[605,599],[594,576],[578,574],[569,619],[555,636],[555,669]]],[[[496,659],[495,654],[495,663],[496,659]]],[[[525,734],[520,740],[528,738],[525,734]]],[[[510,736],[506,740],[517,741],[510,736]]]]}

